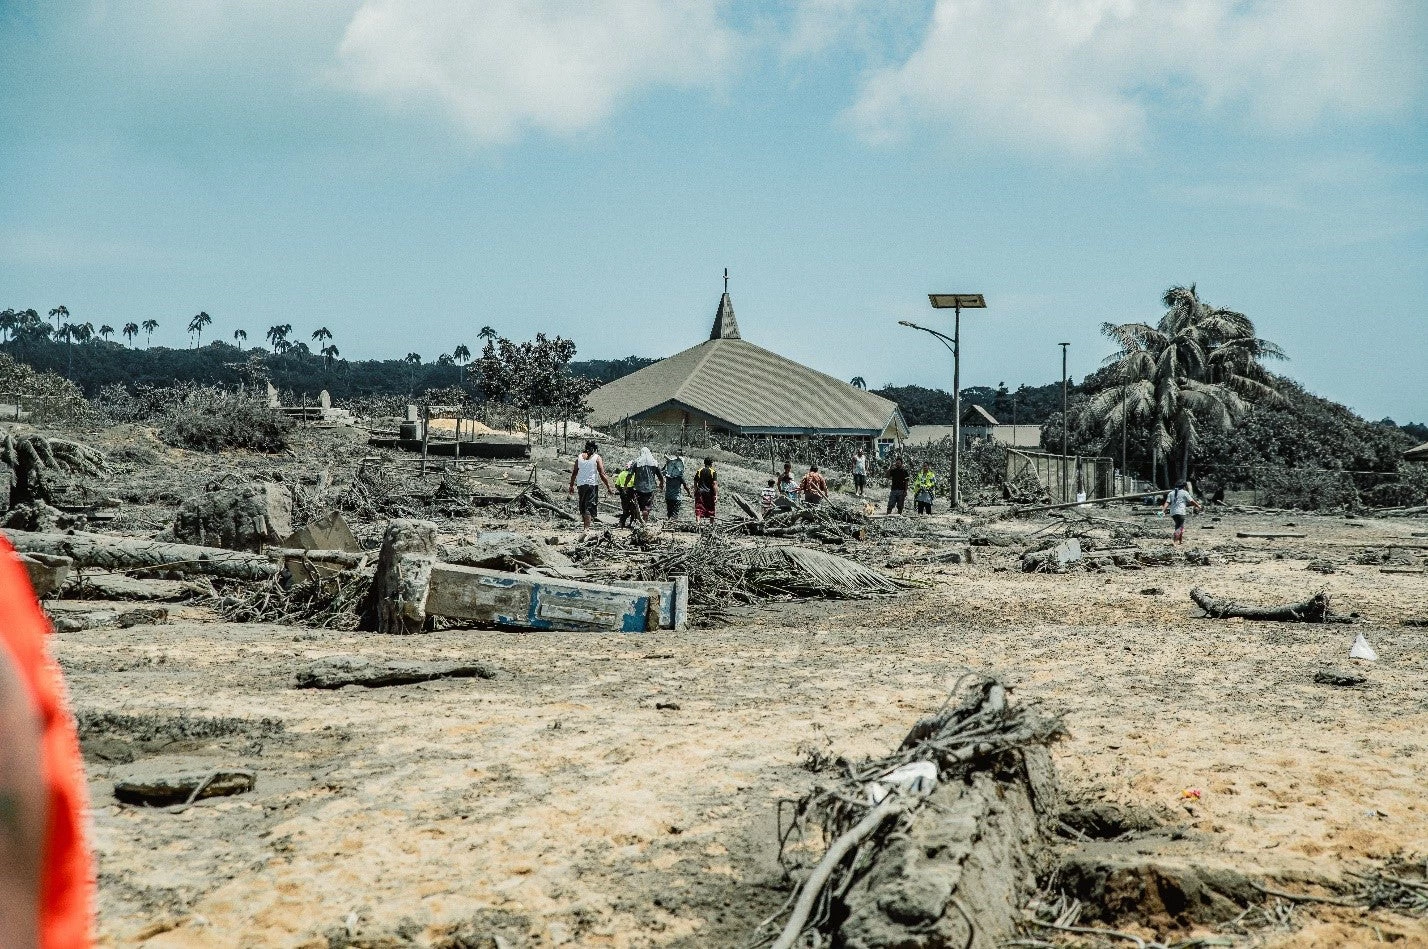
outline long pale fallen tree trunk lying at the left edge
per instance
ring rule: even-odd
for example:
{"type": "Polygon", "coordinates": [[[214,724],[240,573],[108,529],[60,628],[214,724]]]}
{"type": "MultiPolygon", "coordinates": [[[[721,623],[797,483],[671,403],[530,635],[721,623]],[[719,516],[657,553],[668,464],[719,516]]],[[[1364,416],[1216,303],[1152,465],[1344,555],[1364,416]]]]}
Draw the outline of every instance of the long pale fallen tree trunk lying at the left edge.
{"type": "Polygon", "coordinates": [[[267,579],[277,572],[277,564],[258,554],[226,551],[193,544],[163,544],[106,534],[31,534],[4,531],[6,538],[21,554],[69,557],[79,568],[120,572],[171,571],[200,574],[224,579],[267,579]]]}

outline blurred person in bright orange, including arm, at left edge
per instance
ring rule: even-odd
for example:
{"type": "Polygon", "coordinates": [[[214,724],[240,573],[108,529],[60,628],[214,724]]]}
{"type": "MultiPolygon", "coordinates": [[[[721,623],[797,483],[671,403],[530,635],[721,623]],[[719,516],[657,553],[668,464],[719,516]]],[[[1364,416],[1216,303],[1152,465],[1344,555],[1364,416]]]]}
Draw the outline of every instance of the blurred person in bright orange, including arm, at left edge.
{"type": "Polygon", "coordinates": [[[84,765],[49,632],[24,567],[0,538],[0,949],[81,949],[93,939],[84,765]]]}

